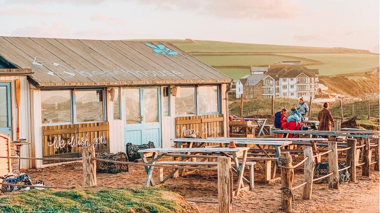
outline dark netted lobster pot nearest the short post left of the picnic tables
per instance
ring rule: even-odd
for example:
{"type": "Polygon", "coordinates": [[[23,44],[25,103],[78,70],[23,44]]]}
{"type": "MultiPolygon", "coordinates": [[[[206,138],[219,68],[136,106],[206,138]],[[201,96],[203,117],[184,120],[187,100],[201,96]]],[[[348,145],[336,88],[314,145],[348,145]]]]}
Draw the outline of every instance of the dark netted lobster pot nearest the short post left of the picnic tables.
{"type": "MultiPolygon", "coordinates": [[[[128,162],[128,157],[124,152],[118,152],[116,154],[108,154],[105,152],[96,153],[96,158],[110,160],[110,161],[122,161],[128,162]]],[[[110,162],[97,161],[96,171],[101,173],[111,173],[116,174],[120,172],[127,172],[128,165],[125,164],[115,164],[110,162]]]]}

